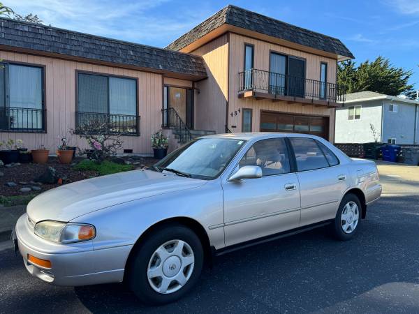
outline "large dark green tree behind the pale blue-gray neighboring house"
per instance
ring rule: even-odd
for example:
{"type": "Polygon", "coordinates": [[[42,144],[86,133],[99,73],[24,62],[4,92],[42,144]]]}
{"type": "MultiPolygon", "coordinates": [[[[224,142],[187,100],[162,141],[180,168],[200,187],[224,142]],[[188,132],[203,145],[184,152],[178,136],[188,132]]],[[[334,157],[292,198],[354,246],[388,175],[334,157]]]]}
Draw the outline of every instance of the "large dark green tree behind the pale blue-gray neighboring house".
{"type": "Polygon", "coordinates": [[[380,56],[372,62],[362,62],[358,67],[352,60],[339,63],[337,83],[344,87],[346,93],[376,91],[391,96],[404,94],[413,98],[413,84],[409,84],[412,75],[412,70],[392,66],[389,59],[380,56]]]}

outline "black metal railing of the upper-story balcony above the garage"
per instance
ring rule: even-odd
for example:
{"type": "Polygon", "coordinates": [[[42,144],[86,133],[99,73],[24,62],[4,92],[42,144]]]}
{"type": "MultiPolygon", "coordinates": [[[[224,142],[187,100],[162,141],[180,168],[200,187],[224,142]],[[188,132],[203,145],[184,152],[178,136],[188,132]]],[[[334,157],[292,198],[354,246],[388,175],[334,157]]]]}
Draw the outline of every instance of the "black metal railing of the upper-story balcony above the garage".
{"type": "Polygon", "coordinates": [[[275,96],[323,100],[328,103],[345,100],[344,89],[337,84],[254,68],[239,73],[239,92],[241,91],[258,91],[275,96]]]}

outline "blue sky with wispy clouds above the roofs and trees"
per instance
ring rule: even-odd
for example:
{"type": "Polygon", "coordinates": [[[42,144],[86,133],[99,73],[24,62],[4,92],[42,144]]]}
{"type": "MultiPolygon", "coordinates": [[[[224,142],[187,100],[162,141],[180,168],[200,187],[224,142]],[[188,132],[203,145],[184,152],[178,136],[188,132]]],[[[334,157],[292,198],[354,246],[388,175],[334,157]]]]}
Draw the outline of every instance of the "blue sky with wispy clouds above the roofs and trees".
{"type": "Polygon", "coordinates": [[[46,24],[164,47],[228,3],[337,37],[355,61],[388,57],[419,89],[419,0],[3,0],[46,24]]]}

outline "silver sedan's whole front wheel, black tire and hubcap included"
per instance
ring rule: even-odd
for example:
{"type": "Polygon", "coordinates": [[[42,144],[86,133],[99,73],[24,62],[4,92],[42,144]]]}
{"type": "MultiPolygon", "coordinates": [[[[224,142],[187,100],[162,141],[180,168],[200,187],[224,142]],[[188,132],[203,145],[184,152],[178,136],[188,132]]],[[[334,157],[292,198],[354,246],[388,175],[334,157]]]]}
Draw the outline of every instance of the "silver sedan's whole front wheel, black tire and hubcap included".
{"type": "Polygon", "coordinates": [[[142,241],[131,260],[128,284],[143,303],[168,304],[196,285],[203,262],[203,246],[195,232],[184,225],[166,225],[142,241]]]}

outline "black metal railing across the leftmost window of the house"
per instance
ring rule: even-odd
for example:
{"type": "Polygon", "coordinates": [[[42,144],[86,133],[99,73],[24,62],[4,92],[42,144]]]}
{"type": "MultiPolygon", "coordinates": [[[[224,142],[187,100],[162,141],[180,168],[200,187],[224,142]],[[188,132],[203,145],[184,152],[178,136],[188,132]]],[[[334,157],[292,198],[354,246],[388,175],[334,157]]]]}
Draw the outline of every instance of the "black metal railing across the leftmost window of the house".
{"type": "Polygon", "coordinates": [[[44,132],[45,110],[19,107],[0,107],[0,131],[44,132]]]}

